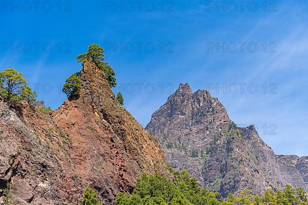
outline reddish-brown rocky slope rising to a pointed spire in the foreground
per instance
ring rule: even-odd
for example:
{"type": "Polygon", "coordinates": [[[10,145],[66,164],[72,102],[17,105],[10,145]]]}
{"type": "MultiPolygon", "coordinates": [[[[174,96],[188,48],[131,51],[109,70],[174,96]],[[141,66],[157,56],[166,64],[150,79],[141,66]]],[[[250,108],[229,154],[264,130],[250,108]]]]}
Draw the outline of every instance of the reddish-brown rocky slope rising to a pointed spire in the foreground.
{"type": "Polygon", "coordinates": [[[112,204],[141,173],[169,174],[157,140],[120,106],[104,73],[88,62],[81,82],[80,97],[49,115],[0,98],[0,201],[8,189],[11,204],[80,204],[89,186],[112,204]]]}

